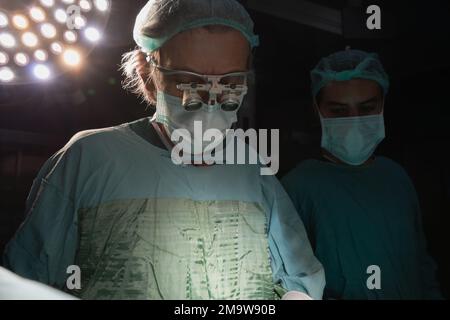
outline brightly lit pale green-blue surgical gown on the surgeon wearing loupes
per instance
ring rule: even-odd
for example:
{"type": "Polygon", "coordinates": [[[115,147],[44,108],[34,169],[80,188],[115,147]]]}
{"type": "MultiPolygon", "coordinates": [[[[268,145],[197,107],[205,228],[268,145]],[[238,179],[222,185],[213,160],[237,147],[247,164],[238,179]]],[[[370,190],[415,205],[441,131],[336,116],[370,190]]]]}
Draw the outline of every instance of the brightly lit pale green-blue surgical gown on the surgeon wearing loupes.
{"type": "Polygon", "coordinates": [[[289,196],[259,165],[177,166],[150,119],[77,134],[41,169],[5,263],[84,299],[322,297],[289,196]]]}

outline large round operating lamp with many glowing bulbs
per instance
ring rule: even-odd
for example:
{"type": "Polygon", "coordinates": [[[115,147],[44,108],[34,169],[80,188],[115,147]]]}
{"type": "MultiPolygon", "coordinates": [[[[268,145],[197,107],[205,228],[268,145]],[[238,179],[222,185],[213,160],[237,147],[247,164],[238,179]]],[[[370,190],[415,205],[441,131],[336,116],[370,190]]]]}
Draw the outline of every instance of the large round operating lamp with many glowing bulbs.
{"type": "Polygon", "coordinates": [[[8,5],[0,9],[0,85],[81,71],[103,37],[111,7],[110,0],[5,1],[8,5]]]}

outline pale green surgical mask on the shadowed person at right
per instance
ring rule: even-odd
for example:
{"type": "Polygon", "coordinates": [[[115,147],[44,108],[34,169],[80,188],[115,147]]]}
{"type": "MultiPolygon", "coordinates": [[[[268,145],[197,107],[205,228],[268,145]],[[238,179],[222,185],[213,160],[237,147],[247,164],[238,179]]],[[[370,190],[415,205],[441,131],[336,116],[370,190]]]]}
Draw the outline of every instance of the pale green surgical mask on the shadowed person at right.
{"type": "Polygon", "coordinates": [[[322,148],[349,165],[366,162],[385,138],[383,114],[320,120],[322,148]]]}

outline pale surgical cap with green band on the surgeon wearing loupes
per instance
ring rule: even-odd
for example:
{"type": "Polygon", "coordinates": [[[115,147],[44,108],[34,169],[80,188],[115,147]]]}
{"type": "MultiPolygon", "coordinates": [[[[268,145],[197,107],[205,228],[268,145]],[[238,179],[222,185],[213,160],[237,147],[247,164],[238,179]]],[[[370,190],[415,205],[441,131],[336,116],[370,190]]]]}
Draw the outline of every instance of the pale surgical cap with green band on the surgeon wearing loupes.
{"type": "Polygon", "coordinates": [[[235,0],[150,0],[136,19],[133,37],[142,50],[153,52],[178,33],[208,25],[234,28],[252,48],[259,44],[252,19],[235,0]]]}

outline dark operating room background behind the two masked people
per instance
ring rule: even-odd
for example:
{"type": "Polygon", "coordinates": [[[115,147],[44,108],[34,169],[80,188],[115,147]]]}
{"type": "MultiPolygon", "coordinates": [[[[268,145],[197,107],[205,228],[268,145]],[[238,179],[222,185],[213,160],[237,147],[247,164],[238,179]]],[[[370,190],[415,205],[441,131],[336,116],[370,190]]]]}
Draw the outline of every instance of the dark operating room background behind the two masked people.
{"type": "MultiPolygon", "coordinates": [[[[280,129],[280,177],[319,146],[309,71],[322,56],[346,46],[379,53],[392,85],[387,139],[378,153],[400,163],[415,183],[429,251],[449,297],[450,1],[241,2],[261,37],[255,53],[256,125],[280,129]],[[365,28],[371,4],[382,9],[381,31],[365,28]]],[[[121,89],[118,71],[121,55],[134,47],[134,19],[145,3],[113,0],[106,39],[82,72],[47,84],[0,85],[0,252],[23,221],[37,171],[73,134],[151,115],[121,89]]]]}

